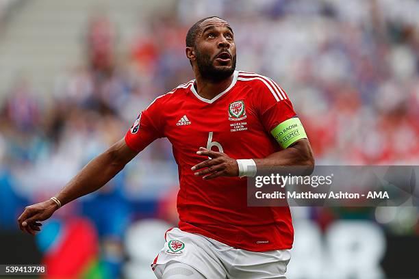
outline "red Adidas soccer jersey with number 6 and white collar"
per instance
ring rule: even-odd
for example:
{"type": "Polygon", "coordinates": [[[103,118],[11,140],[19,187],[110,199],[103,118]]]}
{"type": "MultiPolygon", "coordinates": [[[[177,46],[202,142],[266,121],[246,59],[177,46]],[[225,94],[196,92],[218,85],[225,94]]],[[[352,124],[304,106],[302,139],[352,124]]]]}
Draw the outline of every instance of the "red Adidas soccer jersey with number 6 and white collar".
{"type": "Polygon", "coordinates": [[[288,207],[247,207],[246,178],[205,181],[191,170],[208,158],[196,155],[200,146],[233,159],[264,158],[281,150],[270,131],[296,116],[288,96],[271,79],[241,71],[212,100],[199,96],[194,86],[192,80],[157,97],[138,116],[125,142],[138,151],[158,137],[173,144],[181,230],[245,250],[290,249],[294,230],[288,207]]]}

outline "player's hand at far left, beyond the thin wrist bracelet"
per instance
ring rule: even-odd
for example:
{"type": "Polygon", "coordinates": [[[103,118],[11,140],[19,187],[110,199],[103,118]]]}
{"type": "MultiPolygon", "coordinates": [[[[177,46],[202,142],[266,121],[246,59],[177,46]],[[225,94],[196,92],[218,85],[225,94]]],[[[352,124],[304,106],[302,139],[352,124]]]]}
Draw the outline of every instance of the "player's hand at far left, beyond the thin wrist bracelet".
{"type": "Polygon", "coordinates": [[[19,228],[23,232],[26,231],[31,235],[35,235],[37,231],[40,231],[40,226],[42,226],[40,221],[47,220],[57,209],[58,205],[53,200],[46,200],[45,202],[25,207],[25,211],[18,217],[19,228]]]}

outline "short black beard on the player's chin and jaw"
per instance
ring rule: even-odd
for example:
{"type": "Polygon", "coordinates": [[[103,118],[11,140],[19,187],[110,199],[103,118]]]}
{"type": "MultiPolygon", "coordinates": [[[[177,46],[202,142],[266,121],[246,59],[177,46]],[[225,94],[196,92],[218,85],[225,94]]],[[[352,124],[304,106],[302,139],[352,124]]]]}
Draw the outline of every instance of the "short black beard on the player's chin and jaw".
{"type": "Polygon", "coordinates": [[[234,70],[236,70],[236,55],[231,57],[230,68],[216,68],[214,67],[214,60],[215,58],[211,59],[210,55],[196,51],[196,64],[201,77],[215,83],[233,75],[234,70]]]}

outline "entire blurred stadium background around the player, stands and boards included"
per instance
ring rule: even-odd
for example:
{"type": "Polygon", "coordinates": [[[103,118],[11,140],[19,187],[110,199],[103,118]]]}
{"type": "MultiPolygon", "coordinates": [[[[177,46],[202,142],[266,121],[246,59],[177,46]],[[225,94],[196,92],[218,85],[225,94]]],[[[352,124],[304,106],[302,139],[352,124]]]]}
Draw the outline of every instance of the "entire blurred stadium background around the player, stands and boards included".
{"type": "MultiPolygon", "coordinates": [[[[418,12],[414,0],[0,1],[0,263],[47,263],[48,278],[153,278],[177,223],[164,139],[35,238],[16,218],[193,78],[184,38],[204,16],[231,23],[238,69],[288,92],[317,164],[417,165],[418,12]]],[[[290,278],[419,278],[418,208],[292,213],[290,278]]]]}

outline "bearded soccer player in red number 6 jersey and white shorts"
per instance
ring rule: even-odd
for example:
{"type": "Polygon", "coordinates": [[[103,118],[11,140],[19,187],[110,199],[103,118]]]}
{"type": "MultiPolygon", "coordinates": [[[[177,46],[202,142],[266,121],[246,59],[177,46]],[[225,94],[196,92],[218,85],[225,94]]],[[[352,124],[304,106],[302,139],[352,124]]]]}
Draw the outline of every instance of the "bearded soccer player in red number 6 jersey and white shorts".
{"type": "Polygon", "coordinates": [[[275,81],[235,70],[227,21],[212,16],[195,23],[186,57],[194,80],[155,98],[123,139],[58,195],[27,207],[18,224],[35,235],[40,221],[99,189],[153,140],[167,137],[179,169],[180,221],[152,264],[157,278],[285,278],[290,209],[247,207],[245,176],[265,166],[314,165],[303,126],[275,81]]]}

